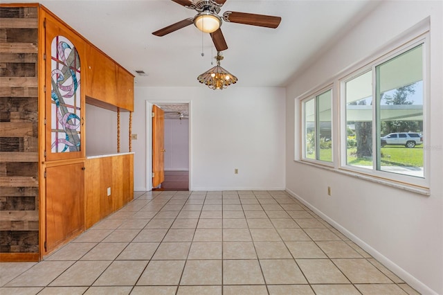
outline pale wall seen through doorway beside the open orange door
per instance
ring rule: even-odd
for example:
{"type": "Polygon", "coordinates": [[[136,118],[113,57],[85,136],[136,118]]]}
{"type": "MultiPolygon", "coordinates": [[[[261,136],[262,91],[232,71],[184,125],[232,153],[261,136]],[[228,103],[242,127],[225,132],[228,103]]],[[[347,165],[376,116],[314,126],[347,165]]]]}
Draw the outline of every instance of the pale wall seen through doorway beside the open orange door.
{"type": "Polygon", "coordinates": [[[189,120],[165,119],[165,170],[189,170],[189,120]]]}

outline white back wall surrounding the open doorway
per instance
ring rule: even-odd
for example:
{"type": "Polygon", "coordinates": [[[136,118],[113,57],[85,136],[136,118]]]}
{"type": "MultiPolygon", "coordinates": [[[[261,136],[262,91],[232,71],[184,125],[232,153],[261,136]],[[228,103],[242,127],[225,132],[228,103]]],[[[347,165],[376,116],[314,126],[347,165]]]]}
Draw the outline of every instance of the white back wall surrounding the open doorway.
{"type": "Polygon", "coordinates": [[[134,189],[147,187],[146,100],[191,102],[191,190],[284,189],[283,88],[136,87],[134,93],[134,189]]]}

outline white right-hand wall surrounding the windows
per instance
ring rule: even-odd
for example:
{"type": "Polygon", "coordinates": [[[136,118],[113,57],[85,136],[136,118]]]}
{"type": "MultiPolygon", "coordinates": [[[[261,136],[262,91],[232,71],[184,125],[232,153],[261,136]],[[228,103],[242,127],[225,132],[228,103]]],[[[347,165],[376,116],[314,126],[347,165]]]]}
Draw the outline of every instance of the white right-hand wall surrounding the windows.
{"type": "MultiPolygon", "coordinates": [[[[442,1],[381,1],[360,24],[318,57],[287,88],[287,190],[329,219],[422,294],[443,294],[443,7],[442,1]],[[419,195],[294,159],[299,101],[347,66],[369,57],[408,28],[431,16],[431,195],[419,195]],[[296,109],[294,111],[294,109],[296,109]],[[294,115],[295,114],[295,115],[294,115]],[[295,135],[294,135],[295,134],[295,135]],[[332,196],[327,196],[332,186],[332,196]]],[[[337,138],[336,138],[337,140],[337,138]]]]}

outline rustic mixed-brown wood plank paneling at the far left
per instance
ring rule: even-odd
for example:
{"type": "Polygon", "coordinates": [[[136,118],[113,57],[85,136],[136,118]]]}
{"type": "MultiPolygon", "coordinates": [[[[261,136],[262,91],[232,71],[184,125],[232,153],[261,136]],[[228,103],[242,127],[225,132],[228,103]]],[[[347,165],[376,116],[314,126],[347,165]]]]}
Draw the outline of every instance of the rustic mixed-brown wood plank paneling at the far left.
{"type": "Polygon", "coordinates": [[[39,257],[37,14],[0,8],[1,260],[39,257]]]}

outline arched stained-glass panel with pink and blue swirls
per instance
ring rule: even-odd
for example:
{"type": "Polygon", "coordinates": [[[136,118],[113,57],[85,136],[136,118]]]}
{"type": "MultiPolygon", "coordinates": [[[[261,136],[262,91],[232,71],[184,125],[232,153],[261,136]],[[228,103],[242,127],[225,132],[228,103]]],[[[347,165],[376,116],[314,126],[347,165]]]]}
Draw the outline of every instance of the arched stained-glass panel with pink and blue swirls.
{"type": "Polygon", "coordinates": [[[80,57],[66,37],[51,43],[51,152],[80,151],[80,57]]]}

